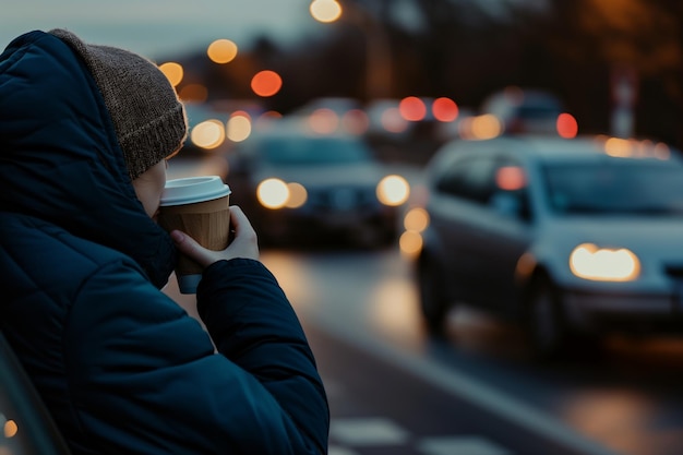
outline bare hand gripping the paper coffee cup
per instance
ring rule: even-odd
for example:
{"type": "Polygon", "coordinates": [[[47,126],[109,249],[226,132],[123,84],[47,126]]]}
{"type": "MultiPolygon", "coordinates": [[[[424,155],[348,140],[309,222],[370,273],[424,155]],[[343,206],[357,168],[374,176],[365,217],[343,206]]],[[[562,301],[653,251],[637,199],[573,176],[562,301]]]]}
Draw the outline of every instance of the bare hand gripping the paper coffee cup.
{"type": "Polygon", "coordinates": [[[247,215],[237,205],[230,206],[230,226],[235,230],[235,238],[223,251],[208,250],[196,242],[192,237],[180,230],[172,230],[171,238],[178,250],[188,258],[206,268],[220,260],[235,258],[259,259],[259,241],[254,228],[247,215]]]}

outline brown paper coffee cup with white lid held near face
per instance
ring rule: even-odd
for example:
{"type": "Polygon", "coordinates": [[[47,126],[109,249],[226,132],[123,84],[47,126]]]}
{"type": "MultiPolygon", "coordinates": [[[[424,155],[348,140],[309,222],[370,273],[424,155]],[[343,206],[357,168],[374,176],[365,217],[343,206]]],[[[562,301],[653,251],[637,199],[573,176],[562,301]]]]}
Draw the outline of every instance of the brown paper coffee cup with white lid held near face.
{"type": "MultiPolygon", "coordinates": [[[[230,193],[218,176],[168,180],[161,194],[159,226],[168,231],[182,230],[209,250],[224,250],[230,234],[230,193]]],[[[202,267],[180,254],[176,278],[180,292],[195,294],[202,267]]]]}

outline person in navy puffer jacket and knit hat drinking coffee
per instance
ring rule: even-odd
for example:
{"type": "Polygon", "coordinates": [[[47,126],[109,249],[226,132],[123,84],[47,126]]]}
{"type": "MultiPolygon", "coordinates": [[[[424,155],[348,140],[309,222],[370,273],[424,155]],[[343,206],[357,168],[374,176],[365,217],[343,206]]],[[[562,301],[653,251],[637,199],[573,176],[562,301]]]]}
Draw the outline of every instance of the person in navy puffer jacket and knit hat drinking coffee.
{"type": "Polygon", "coordinates": [[[73,454],[325,454],[297,314],[231,207],[200,247],[155,223],[184,107],[149,60],[33,31],[0,56],[0,328],[73,454]],[[197,313],[163,291],[203,265],[197,313]]]}

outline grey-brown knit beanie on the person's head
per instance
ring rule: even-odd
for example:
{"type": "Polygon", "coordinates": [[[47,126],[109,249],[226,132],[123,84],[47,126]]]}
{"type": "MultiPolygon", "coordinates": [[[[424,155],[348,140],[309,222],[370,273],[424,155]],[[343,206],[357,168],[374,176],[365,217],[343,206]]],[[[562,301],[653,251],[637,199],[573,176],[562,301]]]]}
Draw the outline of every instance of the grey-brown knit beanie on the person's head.
{"type": "Polygon", "coordinates": [[[184,107],[156,64],[128,50],[85,44],[65,29],[49,33],[71,46],[93,74],[131,179],[183,144],[188,132],[184,107]]]}

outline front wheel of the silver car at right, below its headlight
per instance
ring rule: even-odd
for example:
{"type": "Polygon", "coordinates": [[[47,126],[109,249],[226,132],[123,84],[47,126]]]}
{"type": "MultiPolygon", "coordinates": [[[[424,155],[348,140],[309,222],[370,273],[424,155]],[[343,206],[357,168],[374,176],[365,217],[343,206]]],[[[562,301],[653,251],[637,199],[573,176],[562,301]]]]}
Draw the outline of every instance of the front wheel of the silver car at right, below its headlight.
{"type": "Polygon", "coordinates": [[[527,323],[534,357],[550,360],[563,355],[568,336],[562,296],[548,278],[538,278],[531,287],[527,323]]]}

